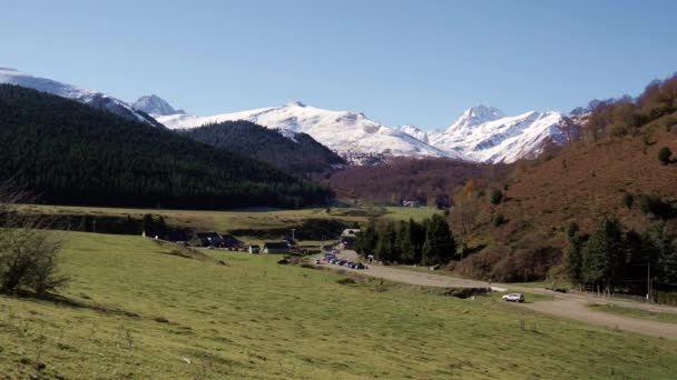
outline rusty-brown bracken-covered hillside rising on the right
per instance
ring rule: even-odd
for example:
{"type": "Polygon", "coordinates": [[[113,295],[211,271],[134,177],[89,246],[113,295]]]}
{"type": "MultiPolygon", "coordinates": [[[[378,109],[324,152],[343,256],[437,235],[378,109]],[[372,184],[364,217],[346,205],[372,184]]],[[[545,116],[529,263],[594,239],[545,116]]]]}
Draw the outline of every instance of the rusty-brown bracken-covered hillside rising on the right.
{"type": "MultiPolygon", "coordinates": [[[[461,192],[465,203],[452,210],[450,220],[455,231],[463,230],[463,218],[467,224],[470,220],[462,239],[469,253],[480,252],[451,269],[497,280],[563,277],[568,226],[575,222],[585,237],[606,217],[617,218],[626,231],[663,228],[665,241],[675,241],[677,164],[674,156],[659,160],[665,148],[677,151],[675,88],[677,77],[650,84],[634,100],[598,104],[587,116],[581,139],[518,162],[510,179],[485,189],[487,194],[503,191],[500,204],[467,186],[461,192]]],[[[665,254],[677,258],[671,249],[665,254]]],[[[646,261],[635,266],[646,272],[646,261]]]]}

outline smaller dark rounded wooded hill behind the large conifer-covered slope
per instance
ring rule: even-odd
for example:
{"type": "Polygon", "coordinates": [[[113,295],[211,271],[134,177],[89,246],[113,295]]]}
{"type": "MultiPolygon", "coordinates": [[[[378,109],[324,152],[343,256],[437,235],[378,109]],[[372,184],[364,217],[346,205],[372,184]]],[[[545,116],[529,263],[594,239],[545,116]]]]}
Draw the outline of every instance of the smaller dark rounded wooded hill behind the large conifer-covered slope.
{"type": "Polygon", "coordinates": [[[330,172],[333,166],[345,163],[341,157],[306,133],[295,133],[292,140],[276,130],[244,120],[181,130],[181,133],[269,162],[300,177],[330,172]]]}

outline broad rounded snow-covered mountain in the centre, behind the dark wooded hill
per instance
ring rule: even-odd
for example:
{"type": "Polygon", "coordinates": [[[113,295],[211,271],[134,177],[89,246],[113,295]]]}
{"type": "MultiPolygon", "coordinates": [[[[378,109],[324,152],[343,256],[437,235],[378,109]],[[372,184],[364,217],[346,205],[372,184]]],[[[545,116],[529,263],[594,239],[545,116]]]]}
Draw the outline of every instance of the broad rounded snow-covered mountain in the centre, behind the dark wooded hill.
{"type": "Polygon", "coordinates": [[[228,120],[247,120],[272,129],[307,133],[341,154],[360,152],[464,159],[455,151],[443,151],[399,129],[375,122],[364,113],[323,110],[302,102],[212,117],[171,114],[157,119],[171,129],[194,128],[228,120]]]}

